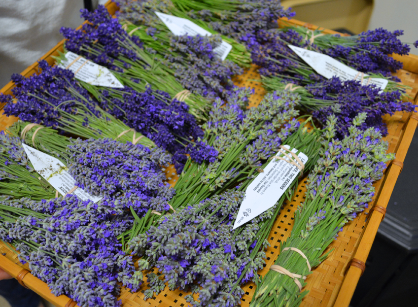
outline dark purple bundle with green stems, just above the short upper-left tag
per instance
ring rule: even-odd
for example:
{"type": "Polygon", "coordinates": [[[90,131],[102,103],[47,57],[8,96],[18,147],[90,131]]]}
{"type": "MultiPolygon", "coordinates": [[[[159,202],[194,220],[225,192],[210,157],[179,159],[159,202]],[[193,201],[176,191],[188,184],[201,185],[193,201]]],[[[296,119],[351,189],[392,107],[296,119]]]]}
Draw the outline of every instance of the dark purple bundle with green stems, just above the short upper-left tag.
{"type": "MultiPolygon", "coordinates": [[[[81,30],[61,28],[67,39],[65,48],[97,64],[108,67],[124,85],[138,92],[146,90],[150,84],[153,89],[162,90],[175,97],[184,88],[176,80],[175,71],[154,60],[153,52],[143,48],[136,36],[129,36],[118,20],[112,18],[103,6],[94,12],[82,10],[82,17],[88,21],[81,30]]],[[[184,96],[190,113],[204,118],[204,112],[210,107],[208,101],[200,95],[184,96]]]]}

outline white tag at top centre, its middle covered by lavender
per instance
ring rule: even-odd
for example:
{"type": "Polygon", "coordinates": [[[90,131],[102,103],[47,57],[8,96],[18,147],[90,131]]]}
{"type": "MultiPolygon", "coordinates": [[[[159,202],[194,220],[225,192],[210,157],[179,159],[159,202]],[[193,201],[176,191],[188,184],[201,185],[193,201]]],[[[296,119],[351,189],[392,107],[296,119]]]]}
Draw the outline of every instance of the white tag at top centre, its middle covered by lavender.
{"type": "MultiPolygon", "coordinates": [[[[180,18],[172,15],[167,15],[159,12],[155,12],[158,18],[170,29],[174,35],[185,35],[190,36],[211,36],[212,33],[206,31],[202,27],[199,27],[194,22],[186,18],[180,18]]],[[[222,41],[221,45],[216,47],[213,51],[221,59],[224,60],[228,56],[229,52],[232,50],[232,45],[228,44],[225,41],[222,41]]]]}

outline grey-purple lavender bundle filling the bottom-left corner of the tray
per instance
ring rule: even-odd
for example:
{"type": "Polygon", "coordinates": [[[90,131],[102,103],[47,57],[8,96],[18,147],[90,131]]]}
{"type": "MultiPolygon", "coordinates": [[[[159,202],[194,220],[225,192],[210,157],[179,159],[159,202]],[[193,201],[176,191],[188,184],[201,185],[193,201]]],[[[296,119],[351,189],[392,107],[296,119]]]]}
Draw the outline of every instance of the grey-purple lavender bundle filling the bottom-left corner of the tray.
{"type": "Polygon", "coordinates": [[[136,290],[131,256],[117,236],[132,224],[114,215],[109,202],[81,201],[74,195],[35,201],[0,197],[0,239],[14,245],[32,275],[54,295],[82,307],[120,306],[120,285],[136,290]]]}

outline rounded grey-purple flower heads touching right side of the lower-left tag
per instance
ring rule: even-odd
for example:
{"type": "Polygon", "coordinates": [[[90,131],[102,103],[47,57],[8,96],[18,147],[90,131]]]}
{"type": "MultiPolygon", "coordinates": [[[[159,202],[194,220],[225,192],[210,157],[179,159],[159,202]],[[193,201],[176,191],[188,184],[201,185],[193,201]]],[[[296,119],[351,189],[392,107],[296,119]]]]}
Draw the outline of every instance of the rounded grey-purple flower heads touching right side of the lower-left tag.
{"type": "Polygon", "coordinates": [[[169,210],[167,201],[175,190],[164,183],[161,165],[167,166],[170,156],[162,149],[111,139],[78,139],[67,151],[71,153],[68,172],[76,185],[93,195],[103,195],[115,213],[130,209],[138,219],[153,210],[169,210]]]}

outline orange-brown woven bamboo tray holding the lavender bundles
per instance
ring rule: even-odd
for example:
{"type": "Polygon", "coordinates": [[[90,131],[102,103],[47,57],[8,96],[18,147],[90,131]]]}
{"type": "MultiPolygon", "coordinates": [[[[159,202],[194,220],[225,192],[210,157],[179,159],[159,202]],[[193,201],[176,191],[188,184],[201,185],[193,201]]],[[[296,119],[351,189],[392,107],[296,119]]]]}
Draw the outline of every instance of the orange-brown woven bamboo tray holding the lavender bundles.
{"type": "MultiPolygon", "coordinates": [[[[108,3],[107,8],[111,14],[114,14],[117,7],[108,3]]],[[[279,24],[296,24],[316,29],[316,26],[306,24],[293,19],[279,20],[279,24]]],[[[335,33],[334,31],[324,29],[324,32],[335,33]]],[[[53,64],[52,56],[58,55],[58,51],[63,50],[63,41],[56,45],[52,50],[45,54],[42,59],[53,64]]],[[[396,75],[402,80],[402,83],[411,87],[408,94],[417,103],[418,93],[418,57],[413,55],[397,56],[398,60],[404,63],[404,69],[400,70],[396,75]]],[[[38,72],[38,63],[29,66],[21,74],[28,77],[38,72]]],[[[246,74],[235,78],[234,83],[238,86],[247,86],[255,89],[255,95],[252,97],[251,105],[258,105],[264,96],[264,89],[259,83],[248,80],[259,79],[257,66],[253,65],[246,74]]],[[[11,94],[14,84],[8,83],[1,92],[11,94]]],[[[412,100],[412,99],[411,99],[412,100]]],[[[1,108],[1,106],[0,106],[1,108]]],[[[1,111],[0,111],[1,112],[1,111]]],[[[0,130],[4,130],[17,120],[15,117],[6,117],[0,115],[0,130]]],[[[396,113],[394,116],[385,116],[385,122],[388,124],[389,134],[385,138],[389,142],[389,151],[396,153],[396,159],[387,168],[384,178],[375,183],[376,195],[369,205],[369,209],[360,214],[354,221],[343,227],[343,231],[339,233],[328,250],[333,250],[330,256],[313,269],[313,274],[307,278],[306,290],[309,290],[302,301],[302,306],[343,306],[349,305],[351,297],[358,283],[358,280],[364,270],[364,262],[367,259],[371,245],[377,232],[377,228],[385,216],[386,206],[391,196],[396,180],[402,170],[403,161],[412,140],[418,116],[407,113],[396,113]],[[373,214],[370,215],[370,211],[373,214]]],[[[167,180],[174,184],[177,175],[172,167],[166,170],[167,180]]],[[[260,275],[265,275],[268,268],[274,263],[278,255],[278,247],[280,242],[286,240],[293,227],[293,215],[297,206],[304,201],[305,179],[299,183],[297,193],[291,202],[286,202],[280,214],[276,217],[274,226],[270,232],[268,240],[271,246],[267,249],[267,259],[265,267],[259,271],[260,275]]],[[[67,296],[59,297],[50,293],[48,286],[41,280],[33,277],[28,272],[28,266],[20,264],[17,255],[10,250],[2,241],[0,241],[0,267],[9,272],[14,278],[17,278],[26,287],[40,294],[46,300],[52,302],[59,307],[74,307],[76,303],[67,296]]],[[[157,270],[154,268],[157,273],[157,270]]],[[[247,307],[251,301],[251,297],[255,291],[255,285],[248,283],[242,287],[246,294],[242,297],[241,306],[247,307]]],[[[143,286],[135,293],[122,289],[120,299],[124,307],[136,306],[167,306],[182,307],[188,303],[184,299],[187,294],[183,291],[169,291],[167,288],[158,296],[147,301],[144,300],[143,286]]],[[[195,298],[197,296],[195,295],[195,298]]]]}

